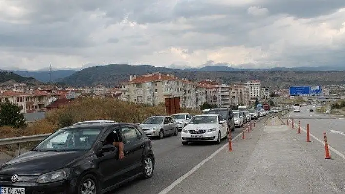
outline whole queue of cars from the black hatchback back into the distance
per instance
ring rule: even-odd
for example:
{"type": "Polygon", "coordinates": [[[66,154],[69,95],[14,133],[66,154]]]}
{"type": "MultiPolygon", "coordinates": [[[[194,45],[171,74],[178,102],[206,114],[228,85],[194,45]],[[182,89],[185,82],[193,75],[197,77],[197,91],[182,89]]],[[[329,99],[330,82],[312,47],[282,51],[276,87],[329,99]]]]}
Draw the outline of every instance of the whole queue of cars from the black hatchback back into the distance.
{"type": "Polygon", "coordinates": [[[137,124],[78,122],[2,164],[0,194],[103,194],[136,178],[153,176],[156,160],[149,137],[162,139],[181,131],[183,145],[196,141],[219,144],[243,125],[241,120],[251,119],[247,110],[214,108],[195,116],[152,116],[137,124]],[[123,159],[113,142],[123,142],[123,159]]]}

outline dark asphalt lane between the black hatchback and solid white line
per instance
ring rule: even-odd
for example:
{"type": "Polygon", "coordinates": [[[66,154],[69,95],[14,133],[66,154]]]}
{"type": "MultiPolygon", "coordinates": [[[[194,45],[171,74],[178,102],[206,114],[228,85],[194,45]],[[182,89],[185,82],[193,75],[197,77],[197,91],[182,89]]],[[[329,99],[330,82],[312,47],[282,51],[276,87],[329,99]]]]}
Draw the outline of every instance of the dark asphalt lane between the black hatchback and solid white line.
{"type": "MultiPolygon", "coordinates": [[[[242,128],[236,128],[232,137],[241,132],[242,128]]],[[[152,178],[135,180],[109,194],[157,194],[227,143],[228,140],[223,140],[220,145],[192,143],[183,146],[180,134],[162,140],[153,139],[156,166],[152,178]]]]}

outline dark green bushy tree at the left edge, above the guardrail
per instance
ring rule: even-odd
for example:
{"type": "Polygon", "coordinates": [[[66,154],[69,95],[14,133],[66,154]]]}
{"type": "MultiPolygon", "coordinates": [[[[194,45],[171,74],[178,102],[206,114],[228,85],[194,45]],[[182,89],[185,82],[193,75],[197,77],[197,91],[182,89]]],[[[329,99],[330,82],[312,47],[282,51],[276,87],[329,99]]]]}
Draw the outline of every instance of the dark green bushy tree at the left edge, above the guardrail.
{"type": "Polygon", "coordinates": [[[20,113],[20,107],[8,101],[0,103],[0,126],[23,127],[25,123],[24,113],[20,113]]]}

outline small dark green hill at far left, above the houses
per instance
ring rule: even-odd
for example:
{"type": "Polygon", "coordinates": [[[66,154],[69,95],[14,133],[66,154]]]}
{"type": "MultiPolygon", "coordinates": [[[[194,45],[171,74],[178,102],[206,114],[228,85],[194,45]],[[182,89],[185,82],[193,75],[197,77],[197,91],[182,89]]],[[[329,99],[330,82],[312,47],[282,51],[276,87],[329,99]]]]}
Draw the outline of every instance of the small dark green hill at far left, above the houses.
{"type": "Polygon", "coordinates": [[[26,83],[28,85],[42,84],[42,82],[39,82],[33,77],[22,77],[13,72],[0,71],[0,85],[1,86],[13,85],[16,83],[26,83]]]}

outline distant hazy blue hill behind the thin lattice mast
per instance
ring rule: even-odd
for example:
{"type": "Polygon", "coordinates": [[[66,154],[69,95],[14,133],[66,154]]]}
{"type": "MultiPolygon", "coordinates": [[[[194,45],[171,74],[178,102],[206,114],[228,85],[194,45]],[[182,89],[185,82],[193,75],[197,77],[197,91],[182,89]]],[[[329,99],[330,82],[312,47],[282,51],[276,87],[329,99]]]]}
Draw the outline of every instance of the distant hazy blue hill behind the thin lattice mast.
{"type": "MultiPolygon", "coordinates": [[[[16,73],[23,77],[33,77],[41,82],[50,82],[49,71],[23,71],[23,70],[12,70],[11,72],[16,73]]],[[[75,73],[75,70],[53,70],[52,71],[52,81],[57,81],[59,79],[68,77],[75,73]]]]}

